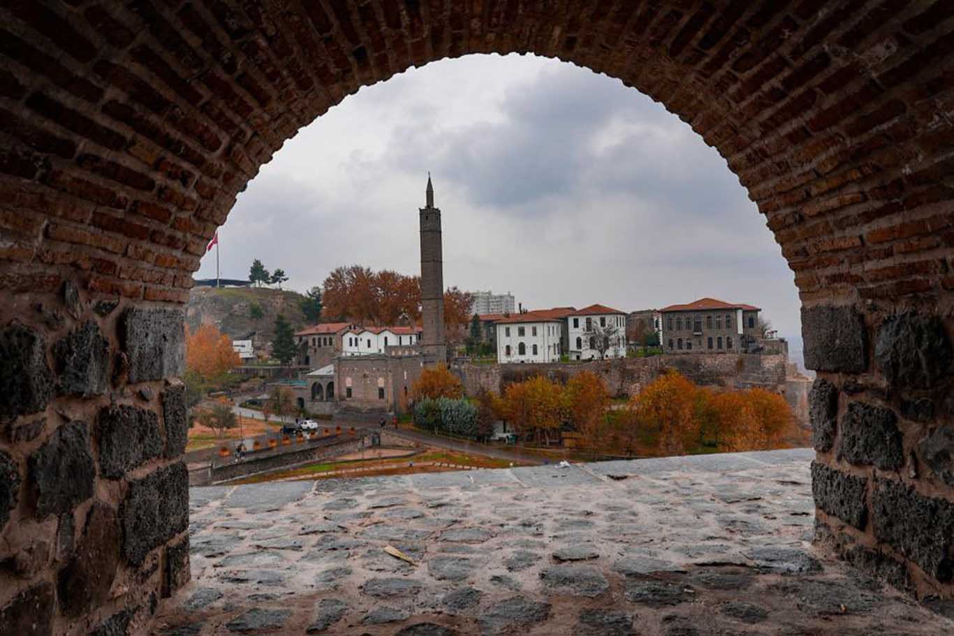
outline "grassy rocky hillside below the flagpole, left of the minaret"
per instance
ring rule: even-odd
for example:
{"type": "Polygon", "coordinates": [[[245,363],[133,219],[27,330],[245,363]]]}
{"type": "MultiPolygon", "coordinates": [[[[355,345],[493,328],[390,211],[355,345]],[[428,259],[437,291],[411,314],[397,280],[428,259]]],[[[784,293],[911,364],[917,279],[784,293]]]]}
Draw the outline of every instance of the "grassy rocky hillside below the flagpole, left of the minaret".
{"type": "Polygon", "coordinates": [[[189,294],[186,324],[190,329],[199,325],[215,325],[232,339],[251,337],[257,351],[271,350],[275,336],[275,318],[280,313],[293,329],[306,324],[300,303],[303,296],[297,291],[266,287],[194,287],[189,294]],[[252,320],[250,307],[258,303],[264,314],[252,320]]]}

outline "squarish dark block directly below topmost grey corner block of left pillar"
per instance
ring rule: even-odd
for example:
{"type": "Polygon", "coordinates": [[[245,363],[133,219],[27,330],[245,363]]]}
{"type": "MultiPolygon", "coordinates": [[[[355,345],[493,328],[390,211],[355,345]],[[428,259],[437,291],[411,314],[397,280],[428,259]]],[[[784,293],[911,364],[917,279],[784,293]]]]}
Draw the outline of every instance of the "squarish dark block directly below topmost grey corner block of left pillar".
{"type": "Polygon", "coordinates": [[[99,412],[99,471],[118,479],[162,453],[159,417],[128,405],[110,405],[99,412]]]}

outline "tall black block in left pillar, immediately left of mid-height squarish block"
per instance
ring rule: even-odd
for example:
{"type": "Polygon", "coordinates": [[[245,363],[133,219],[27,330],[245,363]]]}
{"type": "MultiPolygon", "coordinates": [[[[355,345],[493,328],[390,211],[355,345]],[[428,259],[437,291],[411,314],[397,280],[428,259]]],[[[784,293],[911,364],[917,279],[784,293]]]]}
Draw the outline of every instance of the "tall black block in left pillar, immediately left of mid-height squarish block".
{"type": "Polygon", "coordinates": [[[40,517],[72,512],[77,503],[93,497],[96,469],[85,423],[60,426],[28,463],[40,517]]]}

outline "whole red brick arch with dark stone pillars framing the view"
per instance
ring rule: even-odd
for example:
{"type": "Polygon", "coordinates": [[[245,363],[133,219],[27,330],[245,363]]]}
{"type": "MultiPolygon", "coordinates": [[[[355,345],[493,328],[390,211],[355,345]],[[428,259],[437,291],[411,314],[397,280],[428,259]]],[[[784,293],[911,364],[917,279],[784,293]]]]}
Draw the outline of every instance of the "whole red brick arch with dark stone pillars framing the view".
{"type": "Polygon", "coordinates": [[[716,147],[796,273],[823,378],[819,541],[952,595],[945,0],[13,0],[0,16],[0,561],[120,538],[109,559],[64,548],[0,573],[5,620],[40,602],[57,629],[122,621],[182,583],[179,307],[206,241],[301,126],[466,53],[617,77],[716,147]],[[147,442],[125,447],[130,427],[147,442]],[[53,479],[66,464],[78,477],[53,479]],[[48,572],[98,583],[57,595],[48,572]]]}

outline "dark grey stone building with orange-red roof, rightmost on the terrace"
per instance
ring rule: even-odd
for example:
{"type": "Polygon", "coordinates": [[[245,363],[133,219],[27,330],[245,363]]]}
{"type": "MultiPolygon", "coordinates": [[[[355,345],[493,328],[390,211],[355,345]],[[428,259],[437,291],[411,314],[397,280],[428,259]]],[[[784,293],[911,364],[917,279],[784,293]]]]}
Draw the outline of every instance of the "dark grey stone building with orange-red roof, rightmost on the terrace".
{"type": "Polygon", "coordinates": [[[700,298],[660,309],[662,345],[667,353],[747,351],[758,337],[758,307],[700,298]]]}

